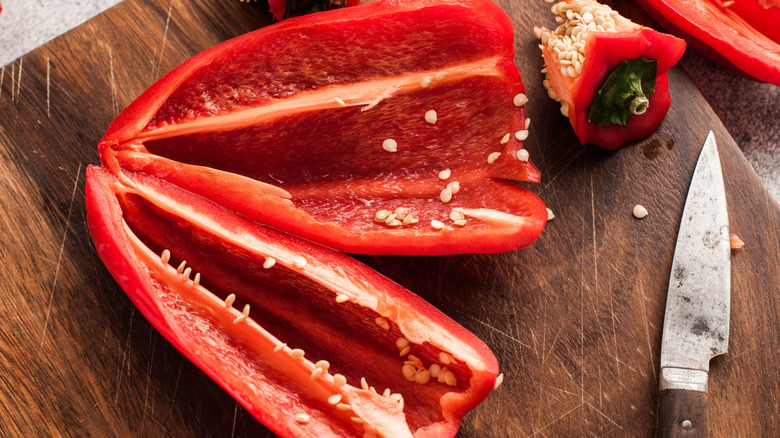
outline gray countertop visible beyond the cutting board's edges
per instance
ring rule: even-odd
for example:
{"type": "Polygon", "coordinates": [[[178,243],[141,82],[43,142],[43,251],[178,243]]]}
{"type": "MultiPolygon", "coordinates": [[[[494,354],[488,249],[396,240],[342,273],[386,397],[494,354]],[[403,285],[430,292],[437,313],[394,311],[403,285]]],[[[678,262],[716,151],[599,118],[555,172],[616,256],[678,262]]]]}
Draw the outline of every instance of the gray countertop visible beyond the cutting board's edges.
{"type": "MultiPolygon", "coordinates": [[[[120,0],[0,2],[0,65],[6,65],[120,0]]],[[[774,198],[780,199],[780,87],[734,75],[692,50],[680,64],[774,198]]]]}

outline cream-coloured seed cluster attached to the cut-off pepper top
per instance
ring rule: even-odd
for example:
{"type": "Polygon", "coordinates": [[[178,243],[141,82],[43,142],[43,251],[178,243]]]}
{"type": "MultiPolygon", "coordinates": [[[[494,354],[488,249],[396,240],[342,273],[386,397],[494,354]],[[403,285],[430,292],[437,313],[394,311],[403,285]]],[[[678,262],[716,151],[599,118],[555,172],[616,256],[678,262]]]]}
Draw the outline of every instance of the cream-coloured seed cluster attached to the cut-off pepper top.
{"type": "MultiPolygon", "coordinates": [[[[555,15],[555,21],[560,25],[553,31],[547,28],[534,28],[536,37],[541,40],[539,48],[548,47],[560,62],[563,76],[576,78],[582,73],[585,64],[585,41],[590,32],[616,32],[615,17],[619,14],[606,5],[589,0],[574,0],[571,4],[559,2],[550,10],[555,15]]],[[[542,69],[545,74],[544,84],[547,95],[560,101],[550,85],[548,65],[542,69]]],[[[561,112],[564,112],[563,110],[561,112]]],[[[566,109],[568,113],[568,108],[566,109]]]]}

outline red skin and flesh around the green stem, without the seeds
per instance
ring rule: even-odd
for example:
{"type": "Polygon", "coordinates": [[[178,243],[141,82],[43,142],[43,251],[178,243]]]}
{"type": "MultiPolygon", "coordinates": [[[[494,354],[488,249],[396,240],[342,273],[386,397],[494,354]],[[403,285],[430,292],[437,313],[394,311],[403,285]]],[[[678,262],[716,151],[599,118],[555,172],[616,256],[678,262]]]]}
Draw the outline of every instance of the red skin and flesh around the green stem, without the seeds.
{"type": "MultiPolygon", "coordinates": [[[[567,1],[571,3],[571,1],[567,1]]],[[[585,41],[585,62],[577,78],[560,74],[558,56],[543,47],[550,82],[562,101],[569,104],[569,120],[580,143],[614,150],[641,140],[661,125],[671,105],[666,72],[685,52],[685,42],[622,19],[616,20],[618,32],[591,32],[585,41]],[[656,87],[644,114],[633,116],[625,127],[598,126],[588,121],[590,104],[607,77],[623,61],[644,58],[658,61],[656,87]]]]}

